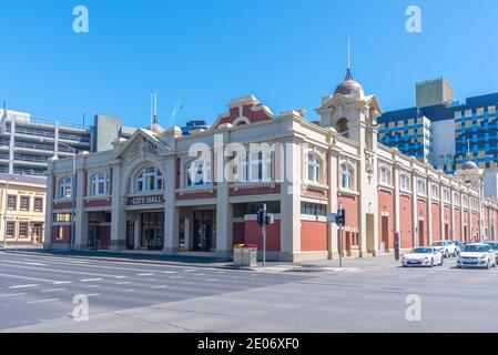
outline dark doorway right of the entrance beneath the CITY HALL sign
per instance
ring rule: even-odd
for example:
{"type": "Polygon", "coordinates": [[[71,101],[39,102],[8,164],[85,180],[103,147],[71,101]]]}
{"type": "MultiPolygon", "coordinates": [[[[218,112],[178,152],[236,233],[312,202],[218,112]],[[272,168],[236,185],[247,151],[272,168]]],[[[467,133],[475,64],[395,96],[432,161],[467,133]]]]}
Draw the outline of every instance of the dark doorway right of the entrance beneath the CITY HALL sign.
{"type": "Polygon", "coordinates": [[[216,212],[194,212],[194,245],[195,252],[211,252],[216,243],[216,212]]]}

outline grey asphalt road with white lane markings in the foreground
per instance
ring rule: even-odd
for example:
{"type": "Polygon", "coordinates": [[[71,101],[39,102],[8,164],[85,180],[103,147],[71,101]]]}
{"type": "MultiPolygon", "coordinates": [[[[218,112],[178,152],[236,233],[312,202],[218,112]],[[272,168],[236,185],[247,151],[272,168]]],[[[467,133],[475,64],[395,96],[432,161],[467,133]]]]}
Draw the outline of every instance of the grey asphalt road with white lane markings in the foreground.
{"type": "Polygon", "coordinates": [[[455,260],[297,273],[0,253],[2,332],[497,332],[497,294],[498,270],[455,260]]]}

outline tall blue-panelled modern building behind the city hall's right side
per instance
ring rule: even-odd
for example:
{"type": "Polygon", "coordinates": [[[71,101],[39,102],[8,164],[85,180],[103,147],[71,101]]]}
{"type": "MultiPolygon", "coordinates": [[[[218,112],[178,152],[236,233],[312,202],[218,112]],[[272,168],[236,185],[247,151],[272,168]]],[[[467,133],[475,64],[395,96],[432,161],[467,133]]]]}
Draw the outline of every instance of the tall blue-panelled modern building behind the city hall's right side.
{"type": "Polygon", "coordinates": [[[471,160],[486,170],[486,192],[497,196],[498,93],[458,102],[444,79],[417,83],[416,92],[417,106],[379,118],[379,142],[447,173],[471,160]]]}

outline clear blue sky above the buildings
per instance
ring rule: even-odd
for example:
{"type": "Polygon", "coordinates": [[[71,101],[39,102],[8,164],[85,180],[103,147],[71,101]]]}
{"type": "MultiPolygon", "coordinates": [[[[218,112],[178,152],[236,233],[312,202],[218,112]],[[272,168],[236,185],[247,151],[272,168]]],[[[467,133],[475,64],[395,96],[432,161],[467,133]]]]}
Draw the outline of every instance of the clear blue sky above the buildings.
{"type": "Polygon", "coordinates": [[[456,99],[498,92],[496,0],[0,0],[0,101],[38,118],[92,123],[96,113],[150,124],[150,92],[167,125],[214,122],[254,94],[309,120],[344,79],[384,111],[415,104],[415,83],[445,77],[456,99]],[[73,8],[89,32],[73,31],[73,8]],[[421,32],[406,31],[406,9],[421,32]]]}

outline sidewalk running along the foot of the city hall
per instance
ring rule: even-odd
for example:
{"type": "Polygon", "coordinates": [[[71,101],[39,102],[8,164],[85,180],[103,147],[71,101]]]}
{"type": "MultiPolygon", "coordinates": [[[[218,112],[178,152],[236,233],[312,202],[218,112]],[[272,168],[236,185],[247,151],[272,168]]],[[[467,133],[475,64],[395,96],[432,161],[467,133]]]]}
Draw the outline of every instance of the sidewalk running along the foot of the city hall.
{"type": "MultiPolygon", "coordinates": [[[[83,260],[98,260],[109,262],[125,262],[125,263],[141,263],[141,264],[157,264],[171,266],[190,266],[190,267],[213,267],[213,268],[231,268],[240,270],[232,264],[230,258],[216,258],[206,256],[185,256],[185,255],[151,255],[141,253],[113,253],[113,252],[69,252],[69,251],[45,251],[42,248],[0,248],[0,253],[7,254],[30,254],[30,255],[47,255],[60,256],[83,260]]],[[[359,271],[359,270],[380,270],[393,267],[398,263],[395,262],[394,256],[385,255],[378,257],[366,258],[344,258],[343,267],[339,267],[338,260],[315,261],[304,263],[284,263],[284,262],[267,262],[266,267],[263,268],[262,263],[258,263],[257,268],[243,268],[248,271],[268,271],[268,272],[341,272],[341,271],[359,271]]]]}

